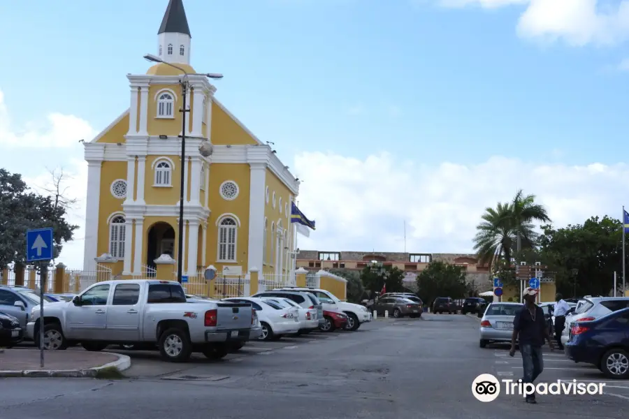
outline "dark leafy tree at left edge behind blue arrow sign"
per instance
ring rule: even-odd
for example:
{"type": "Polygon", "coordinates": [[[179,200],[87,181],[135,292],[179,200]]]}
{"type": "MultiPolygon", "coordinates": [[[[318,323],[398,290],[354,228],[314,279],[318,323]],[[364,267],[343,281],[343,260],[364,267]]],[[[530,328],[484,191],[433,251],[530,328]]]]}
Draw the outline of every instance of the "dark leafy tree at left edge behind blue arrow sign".
{"type": "Polygon", "coordinates": [[[57,258],[78,228],[65,216],[66,207],[58,205],[55,197],[34,193],[21,175],[0,168],[0,267],[25,263],[26,232],[34,228],[52,227],[57,258]]]}

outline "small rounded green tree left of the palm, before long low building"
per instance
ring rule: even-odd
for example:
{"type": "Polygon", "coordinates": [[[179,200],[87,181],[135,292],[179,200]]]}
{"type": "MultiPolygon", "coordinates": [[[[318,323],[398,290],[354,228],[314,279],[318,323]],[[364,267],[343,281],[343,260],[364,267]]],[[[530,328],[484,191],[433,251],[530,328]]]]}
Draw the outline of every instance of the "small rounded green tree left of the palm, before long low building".
{"type": "Polygon", "coordinates": [[[421,299],[431,305],[437,297],[456,299],[470,293],[463,267],[444,262],[433,262],[421,271],[417,275],[417,287],[421,299]]]}

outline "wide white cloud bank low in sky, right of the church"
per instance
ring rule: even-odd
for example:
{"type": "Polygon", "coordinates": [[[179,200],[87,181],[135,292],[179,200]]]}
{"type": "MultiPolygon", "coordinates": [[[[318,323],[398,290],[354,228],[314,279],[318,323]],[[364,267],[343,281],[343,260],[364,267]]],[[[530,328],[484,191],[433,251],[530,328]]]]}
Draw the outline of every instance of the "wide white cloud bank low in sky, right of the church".
{"type": "MultiPolygon", "coordinates": [[[[467,252],[484,208],[517,189],[534,193],[556,226],[593,215],[621,216],[629,166],[540,164],[494,156],[477,165],[401,161],[389,154],[364,160],[337,154],[296,156],[305,182],[300,209],[317,221],[301,249],[467,252]]],[[[629,204],[629,202],[627,203],[629,204]]]]}

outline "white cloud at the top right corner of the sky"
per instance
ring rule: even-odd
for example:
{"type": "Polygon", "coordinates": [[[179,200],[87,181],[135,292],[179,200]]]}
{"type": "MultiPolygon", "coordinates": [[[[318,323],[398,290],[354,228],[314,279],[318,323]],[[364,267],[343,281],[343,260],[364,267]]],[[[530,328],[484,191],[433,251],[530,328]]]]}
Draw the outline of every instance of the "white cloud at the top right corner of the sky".
{"type": "Polygon", "coordinates": [[[442,6],[498,8],[526,5],[517,32],[523,38],[562,39],[570,45],[612,45],[629,38],[629,1],[438,0],[442,6]]]}

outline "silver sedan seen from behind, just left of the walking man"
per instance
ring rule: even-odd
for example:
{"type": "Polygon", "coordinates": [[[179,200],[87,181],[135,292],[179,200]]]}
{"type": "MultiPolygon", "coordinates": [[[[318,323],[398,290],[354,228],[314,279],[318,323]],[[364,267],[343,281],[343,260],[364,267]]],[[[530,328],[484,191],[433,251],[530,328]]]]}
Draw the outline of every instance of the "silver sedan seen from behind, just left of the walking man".
{"type": "Polygon", "coordinates": [[[492,302],[487,306],[479,328],[479,346],[484,348],[493,342],[510,342],[513,335],[513,319],[522,309],[519,302],[492,302]]]}

